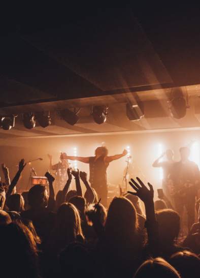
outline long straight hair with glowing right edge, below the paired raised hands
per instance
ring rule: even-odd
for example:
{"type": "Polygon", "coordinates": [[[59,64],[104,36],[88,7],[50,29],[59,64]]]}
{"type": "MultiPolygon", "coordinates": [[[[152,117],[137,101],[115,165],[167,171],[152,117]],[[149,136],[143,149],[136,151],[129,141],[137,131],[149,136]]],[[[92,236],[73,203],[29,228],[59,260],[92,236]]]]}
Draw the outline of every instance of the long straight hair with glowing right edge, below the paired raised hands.
{"type": "Polygon", "coordinates": [[[78,238],[84,240],[79,212],[73,204],[63,203],[56,214],[55,226],[49,238],[49,248],[53,253],[59,253],[78,238]]]}

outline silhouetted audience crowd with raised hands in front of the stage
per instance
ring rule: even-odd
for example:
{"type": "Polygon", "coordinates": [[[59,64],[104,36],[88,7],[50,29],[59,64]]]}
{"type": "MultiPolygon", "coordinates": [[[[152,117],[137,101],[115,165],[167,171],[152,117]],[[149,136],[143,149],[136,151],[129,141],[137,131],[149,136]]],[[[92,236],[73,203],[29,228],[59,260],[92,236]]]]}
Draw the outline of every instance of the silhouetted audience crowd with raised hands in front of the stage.
{"type": "Polygon", "coordinates": [[[56,196],[50,173],[48,188],[36,185],[17,193],[24,167],[21,160],[10,182],[8,168],[2,165],[2,277],[200,276],[199,201],[198,222],[180,238],[178,212],[162,200],[154,203],[153,186],[138,177],[130,181],[132,191],[114,197],[107,209],[87,174],[70,169],[56,196]],[[70,190],[72,177],[76,190],[70,190]]]}

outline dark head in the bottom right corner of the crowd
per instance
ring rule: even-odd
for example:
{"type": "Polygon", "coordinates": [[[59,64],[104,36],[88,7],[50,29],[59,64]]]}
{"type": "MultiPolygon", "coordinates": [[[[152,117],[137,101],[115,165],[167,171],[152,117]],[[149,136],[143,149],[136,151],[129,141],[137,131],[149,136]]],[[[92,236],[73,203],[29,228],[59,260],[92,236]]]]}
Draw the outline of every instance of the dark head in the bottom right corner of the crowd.
{"type": "Polygon", "coordinates": [[[182,278],[199,277],[200,259],[189,251],[173,254],[170,263],[178,270],[182,278]]]}

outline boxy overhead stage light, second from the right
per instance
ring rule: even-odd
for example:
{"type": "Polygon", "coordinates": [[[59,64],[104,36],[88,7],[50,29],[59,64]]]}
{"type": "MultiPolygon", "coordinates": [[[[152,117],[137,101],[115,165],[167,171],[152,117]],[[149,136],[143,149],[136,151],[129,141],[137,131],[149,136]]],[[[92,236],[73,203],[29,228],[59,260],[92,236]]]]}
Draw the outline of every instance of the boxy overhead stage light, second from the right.
{"type": "Polygon", "coordinates": [[[126,103],[126,116],[131,121],[140,120],[142,117],[144,117],[143,103],[126,103]]]}

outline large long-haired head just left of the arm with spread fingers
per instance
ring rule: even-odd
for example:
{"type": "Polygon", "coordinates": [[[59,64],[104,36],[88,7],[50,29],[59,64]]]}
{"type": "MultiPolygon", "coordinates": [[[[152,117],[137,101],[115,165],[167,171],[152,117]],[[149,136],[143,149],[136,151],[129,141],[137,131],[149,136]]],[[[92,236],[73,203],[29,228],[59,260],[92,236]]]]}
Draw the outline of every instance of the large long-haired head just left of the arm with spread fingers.
{"type": "Polygon", "coordinates": [[[137,212],[132,203],[124,197],[115,197],[110,203],[105,234],[114,241],[134,241],[138,231],[137,212]]]}

